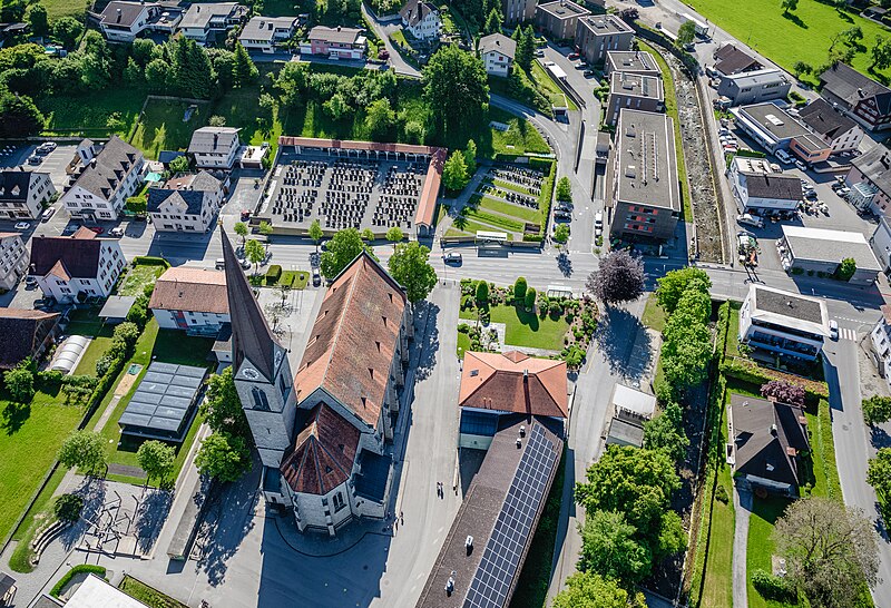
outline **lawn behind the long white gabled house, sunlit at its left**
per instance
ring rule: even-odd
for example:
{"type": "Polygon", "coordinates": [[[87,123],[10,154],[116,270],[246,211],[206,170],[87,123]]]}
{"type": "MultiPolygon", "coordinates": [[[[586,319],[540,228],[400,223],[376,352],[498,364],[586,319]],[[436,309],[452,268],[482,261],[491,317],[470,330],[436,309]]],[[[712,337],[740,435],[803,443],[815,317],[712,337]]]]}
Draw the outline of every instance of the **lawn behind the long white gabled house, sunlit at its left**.
{"type": "Polygon", "coordinates": [[[192,133],[206,125],[210,118],[209,104],[200,104],[188,122],[184,122],[183,118],[190,105],[186,101],[150,100],[146,104],[145,114],[136,127],[130,144],[153,159],[158,158],[160,150],[188,148],[192,133]]]}

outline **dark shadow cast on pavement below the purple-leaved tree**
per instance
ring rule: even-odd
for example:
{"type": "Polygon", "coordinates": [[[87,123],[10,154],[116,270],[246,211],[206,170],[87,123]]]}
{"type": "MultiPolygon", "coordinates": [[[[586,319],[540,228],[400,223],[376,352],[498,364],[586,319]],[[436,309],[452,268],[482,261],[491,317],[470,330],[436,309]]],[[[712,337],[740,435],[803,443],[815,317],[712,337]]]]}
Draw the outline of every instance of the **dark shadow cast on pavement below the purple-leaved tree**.
{"type": "Polygon", "coordinates": [[[649,333],[625,308],[605,307],[604,313],[594,334],[595,344],[604,354],[611,373],[640,380],[653,357],[649,333]],[[638,334],[642,341],[635,349],[638,334]],[[633,355],[640,360],[639,364],[630,364],[633,355]]]}

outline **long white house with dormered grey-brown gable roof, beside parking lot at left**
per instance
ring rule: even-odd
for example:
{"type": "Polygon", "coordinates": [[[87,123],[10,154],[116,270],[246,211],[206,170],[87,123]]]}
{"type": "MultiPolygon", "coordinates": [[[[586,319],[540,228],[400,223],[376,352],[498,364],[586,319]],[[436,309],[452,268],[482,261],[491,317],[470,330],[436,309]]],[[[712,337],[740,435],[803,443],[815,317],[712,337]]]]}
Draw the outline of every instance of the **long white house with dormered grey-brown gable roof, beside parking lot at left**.
{"type": "Polygon", "coordinates": [[[61,196],[72,217],[115,219],[143,183],[143,153],[117,135],[101,147],[84,140],[75,164],[75,183],[61,196]]]}

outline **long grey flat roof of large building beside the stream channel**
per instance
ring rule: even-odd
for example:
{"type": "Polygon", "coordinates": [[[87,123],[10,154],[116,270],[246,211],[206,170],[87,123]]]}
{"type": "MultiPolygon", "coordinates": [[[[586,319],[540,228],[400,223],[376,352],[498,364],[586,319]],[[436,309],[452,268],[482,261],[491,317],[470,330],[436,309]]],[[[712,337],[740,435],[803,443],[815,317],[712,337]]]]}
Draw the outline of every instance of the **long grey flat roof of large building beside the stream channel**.
{"type": "Polygon", "coordinates": [[[664,114],[624,109],[616,127],[617,202],[681,210],[674,121],[664,114]]]}

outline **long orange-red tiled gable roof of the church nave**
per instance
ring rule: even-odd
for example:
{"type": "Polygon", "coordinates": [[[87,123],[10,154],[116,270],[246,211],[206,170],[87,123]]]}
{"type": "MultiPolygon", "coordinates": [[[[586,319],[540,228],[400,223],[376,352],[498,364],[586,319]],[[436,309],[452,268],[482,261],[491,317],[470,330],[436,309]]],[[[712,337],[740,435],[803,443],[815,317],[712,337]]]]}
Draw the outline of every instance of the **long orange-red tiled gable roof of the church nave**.
{"type": "Polygon", "coordinates": [[[381,414],[405,294],[368,254],[334,280],[294,382],[297,402],[319,388],[371,426],[381,414]]]}

